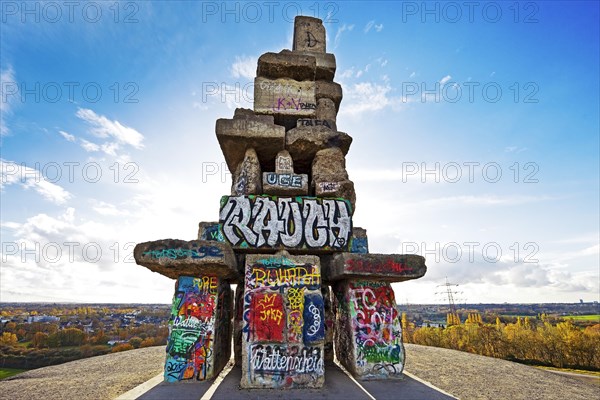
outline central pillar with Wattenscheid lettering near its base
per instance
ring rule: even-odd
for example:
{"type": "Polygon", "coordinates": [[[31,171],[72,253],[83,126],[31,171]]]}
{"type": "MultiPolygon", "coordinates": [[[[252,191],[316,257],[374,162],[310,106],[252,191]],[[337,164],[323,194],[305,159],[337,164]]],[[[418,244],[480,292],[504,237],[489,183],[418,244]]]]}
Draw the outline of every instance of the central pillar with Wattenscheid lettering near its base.
{"type": "Polygon", "coordinates": [[[319,257],[246,256],[244,388],[321,387],[325,314],[319,257]]]}

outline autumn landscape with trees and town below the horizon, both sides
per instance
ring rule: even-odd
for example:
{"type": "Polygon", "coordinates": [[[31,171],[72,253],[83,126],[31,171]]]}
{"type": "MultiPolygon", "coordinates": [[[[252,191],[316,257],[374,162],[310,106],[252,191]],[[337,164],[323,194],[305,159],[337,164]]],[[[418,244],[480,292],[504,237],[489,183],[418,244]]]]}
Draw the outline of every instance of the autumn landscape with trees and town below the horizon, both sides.
{"type": "MultiPolygon", "coordinates": [[[[0,303],[0,310],[0,372],[12,374],[165,345],[171,306],[0,303]]],[[[598,302],[398,304],[398,312],[406,343],[456,348],[536,365],[600,369],[598,302]],[[536,340],[547,342],[543,338],[550,336],[567,346],[564,360],[550,359],[551,352],[546,350],[520,354],[521,348],[537,346],[536,340]],[[521,343],[522,338],[529,338],[527,346],[521,343]]]]}

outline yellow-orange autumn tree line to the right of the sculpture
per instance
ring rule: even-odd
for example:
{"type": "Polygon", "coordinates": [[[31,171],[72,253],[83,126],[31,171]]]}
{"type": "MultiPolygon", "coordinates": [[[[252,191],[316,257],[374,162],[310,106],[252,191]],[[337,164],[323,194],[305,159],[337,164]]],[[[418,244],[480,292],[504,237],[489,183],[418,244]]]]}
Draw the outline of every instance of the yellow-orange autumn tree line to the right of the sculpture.
{"type": "Polygon", "coordinates": [[[447,327],[416,328],[402,314],[405,343],[444,347],[530,365],[600,371],[600,324],[578,327],[570,320],[552,323],[538,317],[484,323],[478,313],[464,322],[448,314],[447,327]]]}

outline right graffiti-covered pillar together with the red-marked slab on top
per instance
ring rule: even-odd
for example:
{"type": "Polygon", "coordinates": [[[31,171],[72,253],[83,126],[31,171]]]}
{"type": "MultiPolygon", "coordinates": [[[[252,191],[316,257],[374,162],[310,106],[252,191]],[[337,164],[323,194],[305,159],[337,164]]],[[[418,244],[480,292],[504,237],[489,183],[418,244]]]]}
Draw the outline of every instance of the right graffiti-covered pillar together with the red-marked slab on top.
{"type": "Polygon", "coordinates": [[[338,360],[362,380],[399,378],[404,369],[402,328],[390,282],[425,274],[415,255],[340,253],[331,257],[338,360]]]}

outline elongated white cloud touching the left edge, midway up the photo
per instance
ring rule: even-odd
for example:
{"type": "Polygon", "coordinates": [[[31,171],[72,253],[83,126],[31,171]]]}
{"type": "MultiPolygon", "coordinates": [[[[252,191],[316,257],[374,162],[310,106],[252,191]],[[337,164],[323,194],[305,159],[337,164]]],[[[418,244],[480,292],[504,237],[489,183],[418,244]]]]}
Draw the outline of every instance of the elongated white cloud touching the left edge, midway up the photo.
{"type": "Polygon", "coordinates": [[[54,204],[64,204],[72,197],[61,186],[47,181],[40,171],[24,164],[0,159],[0,172],[0,190],[4,190],[6,186],[18,184],[25,189],[33,189],[54,204]]]}

